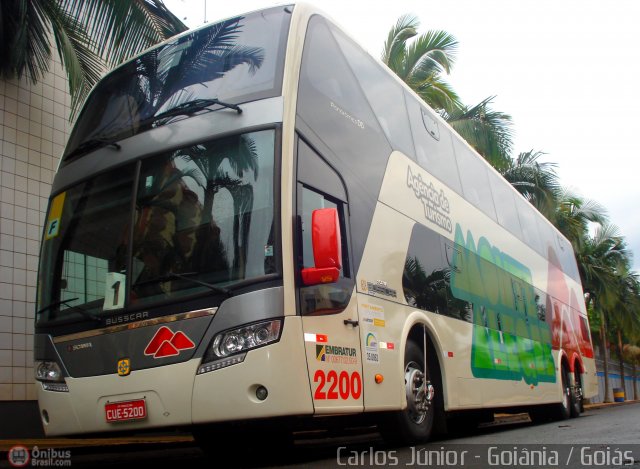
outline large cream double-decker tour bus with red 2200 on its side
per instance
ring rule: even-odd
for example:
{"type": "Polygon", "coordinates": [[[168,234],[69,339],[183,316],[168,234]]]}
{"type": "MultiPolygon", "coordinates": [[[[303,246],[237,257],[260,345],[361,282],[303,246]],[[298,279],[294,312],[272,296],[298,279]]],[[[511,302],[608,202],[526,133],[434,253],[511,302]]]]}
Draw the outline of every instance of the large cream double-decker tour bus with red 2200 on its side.
{"type": "Polygon", "coordinates": [[[309,5],[109,72],[44,221],[47,435],[365,418],[417,442],[597,394],[571,244],[309,5]]]}

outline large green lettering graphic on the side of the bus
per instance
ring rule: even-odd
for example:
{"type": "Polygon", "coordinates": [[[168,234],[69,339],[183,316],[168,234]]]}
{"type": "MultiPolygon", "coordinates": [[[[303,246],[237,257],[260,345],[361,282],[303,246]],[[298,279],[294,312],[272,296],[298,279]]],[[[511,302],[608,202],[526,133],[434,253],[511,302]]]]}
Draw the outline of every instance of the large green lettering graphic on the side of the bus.
{"type": "Polygon", "coordinates": [[[471,370],[478,378],[555,383],[546,305],[532,286],[531,270],[484,237],[456,224],[451,269],[453,295],[473,304],[471,370]]]}

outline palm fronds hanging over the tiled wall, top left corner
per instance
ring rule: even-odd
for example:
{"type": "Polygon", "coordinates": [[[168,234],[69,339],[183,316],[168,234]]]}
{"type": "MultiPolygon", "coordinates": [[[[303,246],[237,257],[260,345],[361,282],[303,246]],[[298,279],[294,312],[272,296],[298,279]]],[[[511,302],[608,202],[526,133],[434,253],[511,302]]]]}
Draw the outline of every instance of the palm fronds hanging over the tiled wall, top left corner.
{"type": "Polygon", "coordinates": [[[161,0],[2,0],[0,77],[39,81],[53,39],[73,116],[105,69],[186,29],[161,0]]]}

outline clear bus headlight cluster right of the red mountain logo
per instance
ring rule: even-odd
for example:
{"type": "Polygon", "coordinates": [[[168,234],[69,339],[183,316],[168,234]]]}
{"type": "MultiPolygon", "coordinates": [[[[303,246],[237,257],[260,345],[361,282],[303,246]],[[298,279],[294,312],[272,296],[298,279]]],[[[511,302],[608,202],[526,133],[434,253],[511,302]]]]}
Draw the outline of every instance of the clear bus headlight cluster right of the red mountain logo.
{"type": "Polygon", "coordinates": [[[211,341],[198,374],[242,363],[246,352],[277,342],[282,332],[282,319],[257,322],[221,332],[211,341]]]}

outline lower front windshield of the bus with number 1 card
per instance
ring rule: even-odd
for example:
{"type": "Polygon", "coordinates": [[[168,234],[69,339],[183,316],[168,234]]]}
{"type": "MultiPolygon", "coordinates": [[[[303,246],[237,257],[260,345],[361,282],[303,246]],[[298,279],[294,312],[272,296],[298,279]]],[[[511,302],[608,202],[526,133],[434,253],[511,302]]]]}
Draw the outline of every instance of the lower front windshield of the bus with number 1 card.
{"type": "Polygon", "coordinates": [[[276,272],[275,130],[163,152],[51,200],[38,317],[97,319],[276,272]]]}

